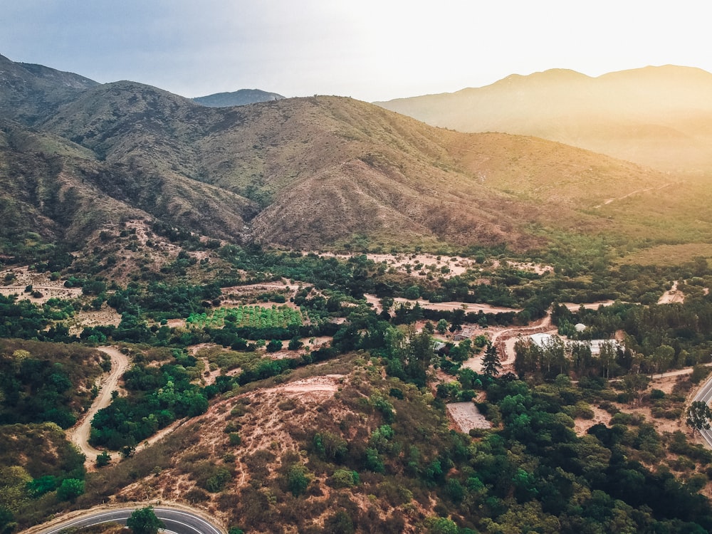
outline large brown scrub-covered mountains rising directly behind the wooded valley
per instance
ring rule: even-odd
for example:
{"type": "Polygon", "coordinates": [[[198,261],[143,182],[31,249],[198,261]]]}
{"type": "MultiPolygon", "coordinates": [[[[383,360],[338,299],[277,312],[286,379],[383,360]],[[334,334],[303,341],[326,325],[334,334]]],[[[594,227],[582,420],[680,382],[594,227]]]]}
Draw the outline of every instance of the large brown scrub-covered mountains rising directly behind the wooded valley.
{"type": "Polygon", "coordinates": [[[14,221],[0,233],[6,246],[27,231],[83,246],[139,217],[288,248],[365,238],[526,250],[547,239],[537,229],[628,231],[611,197],[632,201],[672,181],[560,143],[444,130],[351,98],[207,108],[141,83],[77,88],[43,68],[4,65],[14,83],[3,102],[23,109],[0,128],[0,212],[14,221]]]}

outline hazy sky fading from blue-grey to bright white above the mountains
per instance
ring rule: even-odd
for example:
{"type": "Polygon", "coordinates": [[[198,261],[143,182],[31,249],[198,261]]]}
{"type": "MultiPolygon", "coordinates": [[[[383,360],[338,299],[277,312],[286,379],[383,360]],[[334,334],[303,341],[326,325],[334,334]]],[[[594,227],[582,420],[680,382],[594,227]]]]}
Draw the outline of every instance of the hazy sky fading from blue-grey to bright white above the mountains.
{"type": "Polygon", "coordinates": [[[549,68],[712,71],[694,0],[0,0],[0,54],[188,97],[388,100],[549,68]]]}

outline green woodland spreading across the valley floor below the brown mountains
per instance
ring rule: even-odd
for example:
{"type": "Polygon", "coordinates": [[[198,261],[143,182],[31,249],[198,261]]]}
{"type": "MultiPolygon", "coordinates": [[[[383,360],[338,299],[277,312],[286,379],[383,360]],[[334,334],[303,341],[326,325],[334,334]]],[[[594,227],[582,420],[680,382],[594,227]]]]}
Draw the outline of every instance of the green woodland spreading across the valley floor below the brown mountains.
{"type": "MultiPolygon", "coordinates": [[[[287,513],[286,503],[308,509],[311,505],[303,500],[315,478],[322,477],[339,491],[324,531],[338,525],[345,532],[399,532],[414,501],[425,509],[436,503],[435,515],[419,520],[431,532],[695,533],[712,528],[709,502],[699,493],[712,476],[706,468],[710,454],[689,444],[681,432],[659,434],[652,424],[614,406],[639,402],[647,375],[710,361],[712,297],[703,290],[711,281],[706,264],[612,267],[591,257],[580,258],[575,266],[556,263],[553,272],[536,274],[478,259],[482,271],[441,277],[417,265],[411,273],[395,272],[366,256],[342,260],[211,246],[234,269],[230,278],[198,283],[175,278],[171,268],[164,278],[117,286],[100,277],[71,275],[66,282],[83,288],[81,298],[33,305],[0,296],[1,337],[68,343],[1,342],[0,422],[14,425],[5,428],[49,428],[42,426],[47,422],[66,428],[75,422],[90,402],[98,366],[107,363],[80,343],[130,347],[125,394],[115,395],[98,412],[90,436],[95,446],[122,451],[126,462],[141,441],[178,419],[204,414],[211,402],[257,384],[284,382],[294,372],[309,372],[314,363],[357,355],[366,372],[355,387],[340,391],[339,399],[367,424],[318,416],[318,429],[294,431],[307,461],[285,456],[277,470],[284,477],[280,482],[263,477],[273,486],[280,513],[287,513]],[[676,279],[684,303],[657,305],[676,279]],[[249,303],[225,305],[226,283],[286,281],[298,289],[263,291],[251,295],[249,303]],[[366,303],[367,293],[380,299],[380,313],[366,303]],[[394,305],[396,297],[522,311],[429,310],[419,304],[394,305]],[[618,300],[572,311],[560,304],[602,299],[618,300]],[[70,335],[68,322],[77,313],[106,305],[121,315],[118,325],[93,325],[70,335]],[[488,328],[528,325],[548,310],[560,334],[569,343],[581,343],[538,347],[520,341],[514,363],[518,376],[501,375],[488,328]],[[184,325],[168,325],[176,319],[184,325]],[[419,330],[415,325],[421,321],[426,323],[419,330]],[[585,330],[577,330],[578,323],[585,330]],[[459,344],[445,342],[436,350],[436,332],[452,334],[464,325],[476,325],[481,335],[459,344]],[[622,342],[604,345],[598,354],[584,343],[614,336],[622,342]],[[314,337],[330,341],[305,344],[314,337]],[[204,355],[189,353],[188,347],[199,344],[212,348],[204,355]],[[273,352],[281,354],[276,358],[273,352]],[[478,352],[490,358],[482,374],[462,366],[478,352]],[[94,374],[78,365],[91,358],[94,374]],[[209,383],[203,379],[206,365],[217,372],[209,383]],[[435,384],[435,370],[448,378],[435,384]],[[449,401],[476,401],[493,429],[471,436],[447,430],[444,403],[449,401]],[[595,424],[577,436],[573,420],[591,417],[591,404],[609,411],[611,423],[595,424]],[[356,425],[355,430],[347,431],[347,424],[356,425]],[[672,471],[663,465],[668,454],[676,462],[672,471]],[[355,506],[351,492],[388,503],[389,513],[366,513],[355,506]]],[[[187,253],[176,261],[185,264],[180,268],[196,266],[187,253]]],[[[695,376],[700,375],[697,369],[695,376]]],[[[682,392],[645,395],[654,415],[681,417],[682,392]]],[[[238,428],[228,433],[234,435],[231,446],[239,446],[238,428]]],[[[29,503],[49,509],[83,493],[84,473],[67,447],[60,455],[63,467],[31,460],[21,466],[24,471],[4,471],[10,482],[0,484],[0,513],[5,514],[0,524],[11,525],[14,515],[27,521],[29,503]]],[[[19,465],[15,456],[7,462],[3,468],[19,465]]],[[[201,491],[224,495],[231,478],[221,469],[196,475],[204,479],[201,491]],[[213,475],[220,475],[219,483],[213,475]]],[[[225,469],[229,473],[230,467],[225,469]]],[[[86,483],[92,483],[91,477],[86,483]]],[[[273,503],[261,503],[264,496],[251,487],[238,493],[246,504],[235,507],[236,524],[267,525],[261,514],[273,503]]]]}

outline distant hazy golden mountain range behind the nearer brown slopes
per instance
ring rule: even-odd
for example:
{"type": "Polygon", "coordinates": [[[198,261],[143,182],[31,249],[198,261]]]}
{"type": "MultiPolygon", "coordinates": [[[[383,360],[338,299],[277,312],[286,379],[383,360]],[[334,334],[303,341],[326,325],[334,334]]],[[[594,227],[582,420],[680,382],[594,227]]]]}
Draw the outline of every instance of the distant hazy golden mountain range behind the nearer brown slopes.
{"type": "Polygon", "coordinates": [[[646,67],[598,78],[511,75],[456,93],[377,103],[461,132],[533,135],[666,172],[712,170],[712,74],[646,67]]]}

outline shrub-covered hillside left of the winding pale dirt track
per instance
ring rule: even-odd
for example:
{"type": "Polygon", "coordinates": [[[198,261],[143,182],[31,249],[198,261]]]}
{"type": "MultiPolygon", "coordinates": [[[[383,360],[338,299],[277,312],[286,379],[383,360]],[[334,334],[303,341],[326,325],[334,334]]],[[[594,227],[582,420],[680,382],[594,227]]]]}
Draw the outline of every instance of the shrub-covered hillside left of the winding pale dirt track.
{"type": "Polygon", "coordinates": [[[0,339],[1,531],[13,530],[15,515],[61,508],[83,493],[84,456],[63,429],[89,406],[109,367],[88,347],[0,339]]]}

